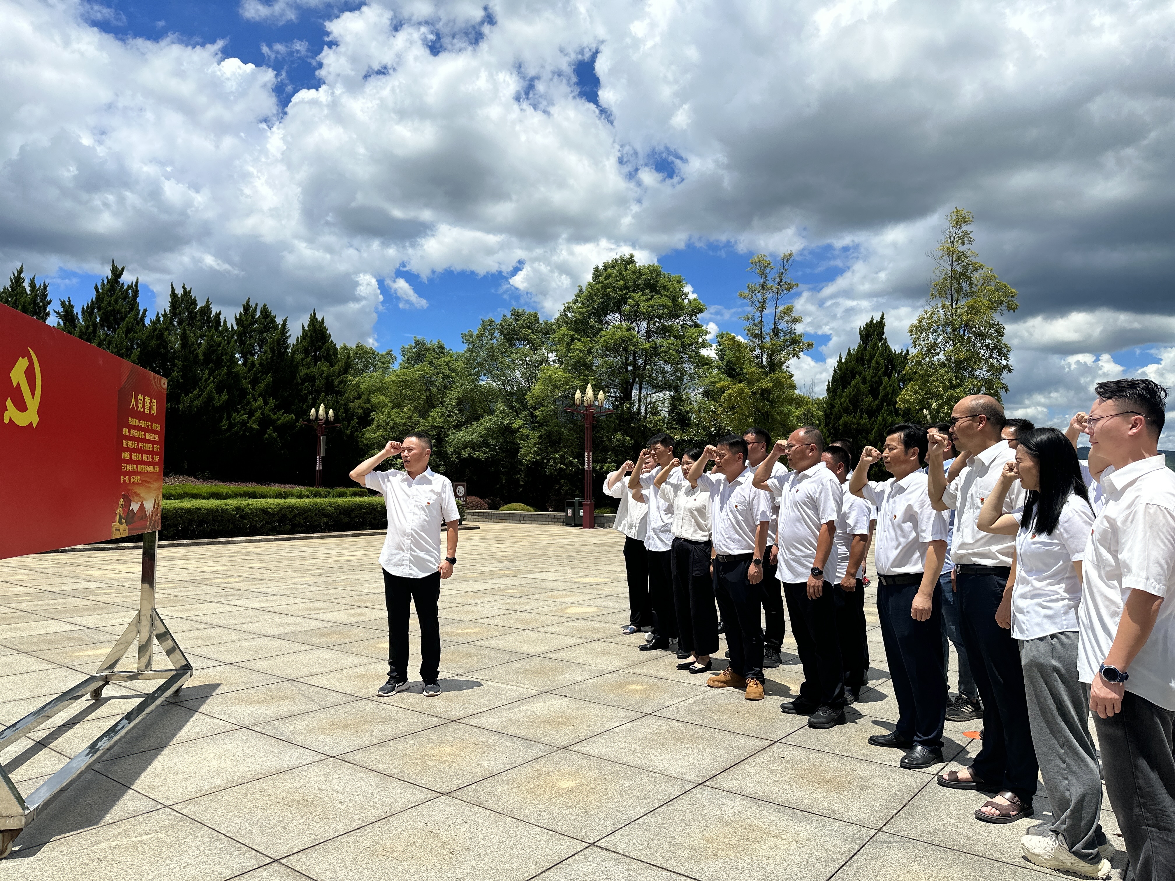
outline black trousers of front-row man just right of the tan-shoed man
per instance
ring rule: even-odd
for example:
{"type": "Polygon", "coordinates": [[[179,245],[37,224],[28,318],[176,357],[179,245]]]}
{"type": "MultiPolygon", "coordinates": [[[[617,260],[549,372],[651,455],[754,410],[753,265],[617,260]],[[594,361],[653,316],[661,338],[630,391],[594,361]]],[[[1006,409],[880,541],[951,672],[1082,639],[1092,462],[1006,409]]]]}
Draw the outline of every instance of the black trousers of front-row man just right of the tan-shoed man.
{"type": "Polygon", "coordinates": [[[837,600],[832,585],[824,583],[824,592],[808,599],[807,581],[784,583],[784,599],[792,617],[795,651],[804,665],[804,685],[799,700],[813,707],[845,706],[845,661],[837,638],[837,600]]]}

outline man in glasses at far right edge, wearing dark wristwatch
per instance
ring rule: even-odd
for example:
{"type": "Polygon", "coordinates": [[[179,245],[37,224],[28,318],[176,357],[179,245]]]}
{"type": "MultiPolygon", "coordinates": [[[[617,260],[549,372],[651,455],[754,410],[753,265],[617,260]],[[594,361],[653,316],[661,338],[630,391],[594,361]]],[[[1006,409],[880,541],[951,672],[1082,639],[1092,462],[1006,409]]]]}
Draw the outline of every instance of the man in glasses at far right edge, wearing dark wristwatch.
{"type": "Polygon", "coordinates": [[[1139,881],[1175,866],[1175,473],[1159,452],[1167,390],[1099,383],[1086,419],[1106,506],[1094,520],[1077,608],[1077,679],[1089,690],[1109,803],[1139,881]]]}

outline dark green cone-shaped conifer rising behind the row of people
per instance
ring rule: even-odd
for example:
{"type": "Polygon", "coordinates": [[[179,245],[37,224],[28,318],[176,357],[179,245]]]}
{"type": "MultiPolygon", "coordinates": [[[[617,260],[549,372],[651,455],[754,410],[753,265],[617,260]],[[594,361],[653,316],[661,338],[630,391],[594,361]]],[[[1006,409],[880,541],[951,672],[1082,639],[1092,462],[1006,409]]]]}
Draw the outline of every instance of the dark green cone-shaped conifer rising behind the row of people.
{"type": "Polygon", "coordinates": [[[909,357],[886,339],[884,312],[870,318],[859,337],[855,347],[837,358],[824,398],[828,439],[847,437],[858,455],[866,445],[880,449],[885,430],[905,418],[898,397],[909,357]]]}

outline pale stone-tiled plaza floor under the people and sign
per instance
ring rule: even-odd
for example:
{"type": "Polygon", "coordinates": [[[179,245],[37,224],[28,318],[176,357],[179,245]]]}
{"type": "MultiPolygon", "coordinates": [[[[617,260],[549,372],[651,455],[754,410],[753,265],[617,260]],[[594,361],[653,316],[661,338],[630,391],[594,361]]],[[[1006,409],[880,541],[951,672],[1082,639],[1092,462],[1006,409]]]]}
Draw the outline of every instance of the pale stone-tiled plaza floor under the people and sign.
{"type": "MultiPolygon", "coordinates": [[[[1028,879],[982,798],[866,744],[895,704],[872,597],[873,681],[850,724],[711,690],[638,652],[623,537],[462,532],[442,583],[439,698],[387,675],[378,537],[160,551],[159,608],[196,673],[53,802],[8,881],[367,879],[1028,879]]],[[[872,572],[872,567],[871,567],[872,572]]],[[[0,561],[0,724],[94,670],[137,605],[139,552],[0,561]]],[[[785,651],[794,651],[794,643],[785,651]]],[[[159,666],[166,658],[159,655],[159,666]]],[[[0,754],[28,793],[137,697],[109,686],[0,754]],[[56,727],[53,727],[56,726],[56,727]]],[[[975,742],[947,722],[961,767],[975,742]]],[[[1107,802],[1108,808],[1108,802],[1107,802]]],[[[1103,825],[1121,848],[1113,814],[1103,825]]],[[[1123,854],[1115,855],[1115,875],[1123,854]]],[[[1049,873],[1043,873],[1049,874],[1049,873]]]]}

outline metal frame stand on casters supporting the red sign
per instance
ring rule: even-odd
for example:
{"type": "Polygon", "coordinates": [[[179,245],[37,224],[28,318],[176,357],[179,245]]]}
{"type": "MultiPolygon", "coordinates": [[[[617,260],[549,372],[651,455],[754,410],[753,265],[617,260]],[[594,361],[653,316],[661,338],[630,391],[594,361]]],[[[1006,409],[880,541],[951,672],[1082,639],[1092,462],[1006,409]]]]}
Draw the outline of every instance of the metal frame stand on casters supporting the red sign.
{"type": "Polygon", "coordinates": [[[119,637],[109,654],[106,655],[98,672],[69,691],[59,694],[39,709],[34,709],[19,722],[0,731],[0,749],[6,744],[21,737],[26,731],[32,731],[46,719],[56,715],[83,694],[88,693],[90,700],[98,700],[102,697],[102,690],[107,682],[163,679],[163,684],[139,701],[129,713],[107,728],[93,744],[67,761],[58,773],[36,787],[28,798],[21,796],[20,791],[13,785],[4,767],[0,766],[0,859],[4,859],[12,852],[16,836],[36,818],[38,812],[51,799],[76,780],[90,765],[101,759],[147,713],[170,695],[177,693],[192,677],[192,664],[184,657],[183,651],[175,641],[175,637],[168,631],[167,625],[163,624],[163,619],[159,612],[155,611],[155,558],[157,551],[159,532],[143,533],[143,566],[139,590],[139,611],[130,620],[130,624],[127,625],[122,635],[119,637]],[[132,643],[137,643],[139,646],[139,664],[136,668],[115,670],[115,666],[122,660],[122,655],[130,648],[132,643]],[[152,654],[155,643],[159,643],[160,647],[167,653],[174,670],[156,671],[153,668],[152,654]]]}

